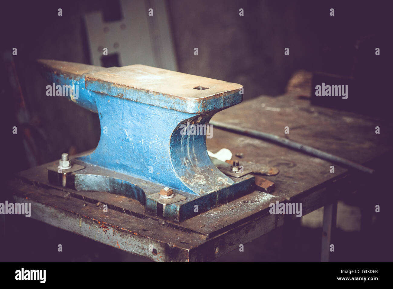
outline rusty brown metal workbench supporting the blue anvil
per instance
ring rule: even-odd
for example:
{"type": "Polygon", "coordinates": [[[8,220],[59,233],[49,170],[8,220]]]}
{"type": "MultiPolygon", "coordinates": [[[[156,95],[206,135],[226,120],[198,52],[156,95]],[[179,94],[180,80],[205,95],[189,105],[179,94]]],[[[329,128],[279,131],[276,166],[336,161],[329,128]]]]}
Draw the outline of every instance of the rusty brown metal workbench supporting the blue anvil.
{"type": "MultiPolygon", "coordinates": [[[[213,120],[285,136],[361,164],[383,159],[392,148],[387,134],[375,133],[381,121],[313,107],[309,100],[292,95],[245,101],[219,112],[213,120]],[[289,134],[284,134],[286,126],[289,134]]],[[[92,191],[80,195],[68,188],[56,188],[48,183],[48,164],[18,173],[17,178],[9,181],[9,189],[15,202],[32,203],[31,217],[49,225],[153,261],[210,261],[238,249],[239,244],[291,223],[294,215],[269,213],[269,204],[276,201],[301,202],[303,215],[327,205],[325,225],[330,222],[334,226],[337,199],[361,183],[357,172],[219,129],[213,129],[213,138],[207,140],[207,145],[212,152],[223,147],[233,153],[241,152],[244,154],[241,162],[278,167],[278,175],[266,177],[275,182],[275,191],[271,194],[253,191],[182,223],[174,223],[145,214],[139,202],[127,197],[92,191]],[[332,165],[334,173],[330,172],[332,165]],[[108,204],[108,212],[103,212],[98,200],[108,204]]],[[[325,245],[330,235],[326,237],[325,245]]]]}

